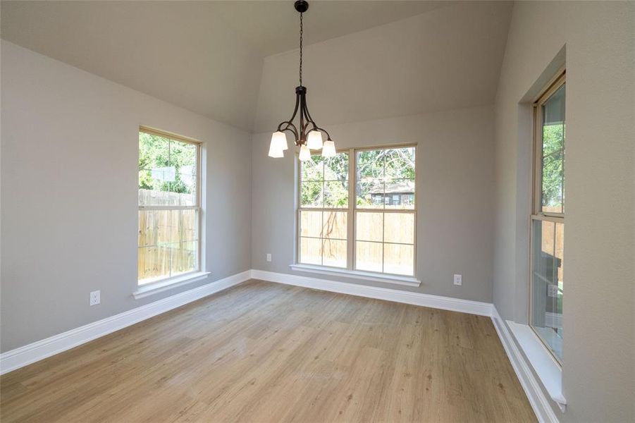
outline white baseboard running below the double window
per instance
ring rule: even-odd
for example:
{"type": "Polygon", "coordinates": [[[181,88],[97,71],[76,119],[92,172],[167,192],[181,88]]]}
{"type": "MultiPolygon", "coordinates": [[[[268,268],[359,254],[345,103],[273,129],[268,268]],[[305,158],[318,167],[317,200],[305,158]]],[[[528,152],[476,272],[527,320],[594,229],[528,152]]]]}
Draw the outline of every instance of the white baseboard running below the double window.
{"type": "Polygon", "coordinates": [[[460,300],[458,298],[442,297],[440,295],[378,288],[376,286],[359,285],[357,283],[335,282],[326,279],[309,278],[307,276],[281,274],[256,269],[252,269],[252,278],[261,279],[262,281],[285,283],[287,285],[303,286],[304,288],[327,290],[334,293],[357,295],[359,297],[404,302],[405,304],[421,305],[423,307],[450,310],[452,312],[479,314],[488,317],[492,315],[492,305],[490,302],[460,300]]]}

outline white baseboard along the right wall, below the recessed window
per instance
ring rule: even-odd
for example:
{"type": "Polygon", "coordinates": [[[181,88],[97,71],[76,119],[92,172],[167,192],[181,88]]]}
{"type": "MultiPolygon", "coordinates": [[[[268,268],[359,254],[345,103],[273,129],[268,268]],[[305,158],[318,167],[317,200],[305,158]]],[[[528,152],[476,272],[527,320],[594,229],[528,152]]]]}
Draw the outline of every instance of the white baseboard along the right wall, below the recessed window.
{"type": "Polygon", "coordinates": [[[507,357],[509,357],[510,362],[512,362],[512,367],[514,367],[516,376],[518,376],[518,380],[529,399],[531,407],[534,409],[534,413],[536,413],[538,421],[544,423],[557,423],[558,418],[549,404],[549,399],[543,393],[538,379],[536,379],[534,373],[531,372],[531,369],[529,368],[530,364],[526,362],[524,356],[514,342],[514,337],[510,333],[510,330],[507,329],[505,321],[500,318],[498,310],[493,305],[492,321],[496,332],[498,332],[500,342],[503,343],[505,353],[507,353],[507,357]]]}

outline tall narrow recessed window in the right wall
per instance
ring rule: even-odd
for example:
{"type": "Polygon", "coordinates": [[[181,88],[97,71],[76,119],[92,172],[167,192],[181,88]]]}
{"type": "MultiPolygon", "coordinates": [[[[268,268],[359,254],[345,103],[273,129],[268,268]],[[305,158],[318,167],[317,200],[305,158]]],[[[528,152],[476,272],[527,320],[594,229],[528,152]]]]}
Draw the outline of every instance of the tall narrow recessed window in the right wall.
{"type": "Polygon", "coordinates": [[[534,104],[531,327],[562,360],[565,245],[565,75],[534,104]]]}

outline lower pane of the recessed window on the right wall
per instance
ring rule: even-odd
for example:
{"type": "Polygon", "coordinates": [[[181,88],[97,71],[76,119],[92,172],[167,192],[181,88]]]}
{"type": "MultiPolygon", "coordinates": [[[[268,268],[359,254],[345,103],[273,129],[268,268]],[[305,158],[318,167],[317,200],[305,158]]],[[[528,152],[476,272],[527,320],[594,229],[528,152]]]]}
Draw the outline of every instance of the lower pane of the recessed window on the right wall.
{"type": "Polygon", "coordinates": [[[531,324],[553,353],[562,359],[562,294],[564,224],[534,220],[531,324]]]}

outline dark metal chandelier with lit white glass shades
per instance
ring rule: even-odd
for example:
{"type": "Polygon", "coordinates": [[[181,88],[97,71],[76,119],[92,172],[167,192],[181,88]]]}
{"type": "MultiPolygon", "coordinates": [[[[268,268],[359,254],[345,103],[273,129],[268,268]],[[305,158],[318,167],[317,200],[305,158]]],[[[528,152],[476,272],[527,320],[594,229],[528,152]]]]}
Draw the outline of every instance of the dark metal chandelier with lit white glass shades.
{"type": "Polygon", "coordinates": [[[271,136],[269,157],[284,157],[284,150],[288,149],[285,132],[290,132],[295,137],[295,145],[300,147],[300,160],[310,159],[312,149],[321,149],[323,157],[333,157],[335,156],[335,143],[331,140],[331,135],[316,125],[309,114],[307,87],[302,85],[302,13],[307,11],[309,3],[305,0],[297,0],[294,6],[295,10],[300,12],[300,86],[295,87],[295,109],[293,109],[291,118],[280,123],[276,132],[271,136]],[[298,115],[300,115],[299,123],[296,126],[293,121],[298,115]],[[326,134],[324,142],[322,133],[326,134]]]}

